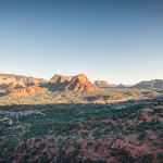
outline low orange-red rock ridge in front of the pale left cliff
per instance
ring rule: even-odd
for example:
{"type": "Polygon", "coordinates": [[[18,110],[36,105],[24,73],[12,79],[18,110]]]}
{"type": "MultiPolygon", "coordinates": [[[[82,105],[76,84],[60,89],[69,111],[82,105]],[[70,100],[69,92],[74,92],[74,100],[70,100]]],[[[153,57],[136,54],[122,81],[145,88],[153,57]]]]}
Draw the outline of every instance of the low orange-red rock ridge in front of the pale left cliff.
{"type": "Polygon", "coordinates": [[[47,90],[48,90],[47,88],[41,88],[38,86],[29,86],[27,88],[9,90],[8,95],[10,95],[10,96],[29,96],[29,95],[45,92],[47,90]]]}

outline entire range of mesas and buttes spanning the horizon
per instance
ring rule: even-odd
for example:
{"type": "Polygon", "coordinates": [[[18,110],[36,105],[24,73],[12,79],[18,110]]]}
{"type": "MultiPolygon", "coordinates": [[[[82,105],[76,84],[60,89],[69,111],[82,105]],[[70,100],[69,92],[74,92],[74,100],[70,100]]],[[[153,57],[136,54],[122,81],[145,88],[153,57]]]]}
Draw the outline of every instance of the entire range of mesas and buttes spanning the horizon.
{"type": "Polygon", "coordinates": [[[85,74],[76,76],[54,75],[49,82],[43,78],[26,77],[22,75],[0,74],[0,90],[5,95],[26,96],[38,92],[51,91],[91,91],[99,88],[139,88],[139,89],[163,89],[163,79],[140,82],[134,86],[111,85],[106,80],[89,82],[85,74]]]}

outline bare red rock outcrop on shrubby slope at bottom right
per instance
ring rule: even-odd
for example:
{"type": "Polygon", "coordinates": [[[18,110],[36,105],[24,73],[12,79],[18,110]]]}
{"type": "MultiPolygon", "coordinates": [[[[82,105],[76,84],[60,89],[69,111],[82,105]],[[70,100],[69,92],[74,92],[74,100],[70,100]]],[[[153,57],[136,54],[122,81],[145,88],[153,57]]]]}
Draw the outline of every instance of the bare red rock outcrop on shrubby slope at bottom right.
{"type": "Polygon", "coordinates": [[[143,151],[141,148],[130,145],[128,142],[124,142],[117,139],[113,145],[112,149],[114,150],[123,150],[126,154],[130,155],[134,160],[138,160],[147,151],[143,151]]]}

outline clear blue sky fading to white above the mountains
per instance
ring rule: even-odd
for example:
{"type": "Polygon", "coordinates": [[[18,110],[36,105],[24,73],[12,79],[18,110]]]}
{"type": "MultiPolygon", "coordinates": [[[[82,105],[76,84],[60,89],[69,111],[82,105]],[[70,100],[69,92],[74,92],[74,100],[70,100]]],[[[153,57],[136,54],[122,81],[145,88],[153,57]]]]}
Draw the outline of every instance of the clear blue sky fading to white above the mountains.
{"type": "Polygon", "coordinates": [[[0,73],[163,79],[162,0],[0,0],[0,73]]]}

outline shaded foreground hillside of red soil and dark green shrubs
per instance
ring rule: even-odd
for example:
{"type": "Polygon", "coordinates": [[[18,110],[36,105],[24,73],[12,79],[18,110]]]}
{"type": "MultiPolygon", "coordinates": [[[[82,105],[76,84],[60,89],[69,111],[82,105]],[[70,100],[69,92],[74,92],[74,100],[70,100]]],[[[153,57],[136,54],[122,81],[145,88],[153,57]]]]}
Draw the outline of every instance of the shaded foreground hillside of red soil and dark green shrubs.
{"type": "Polygon", "coordinates": [[[0,110],[0,162],[163,162],[162,101],[0,110]]]}

